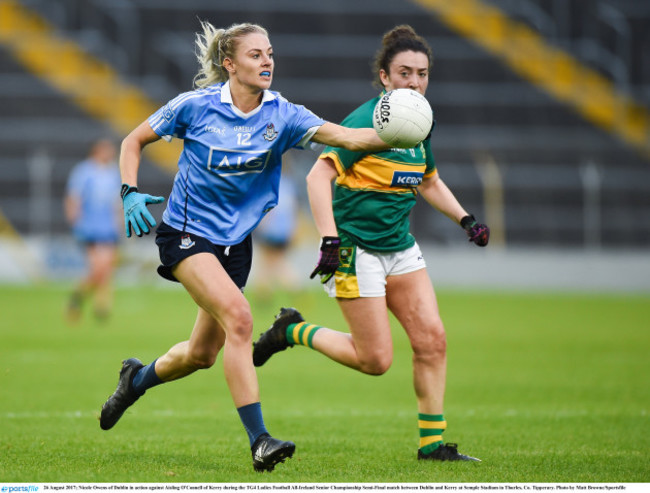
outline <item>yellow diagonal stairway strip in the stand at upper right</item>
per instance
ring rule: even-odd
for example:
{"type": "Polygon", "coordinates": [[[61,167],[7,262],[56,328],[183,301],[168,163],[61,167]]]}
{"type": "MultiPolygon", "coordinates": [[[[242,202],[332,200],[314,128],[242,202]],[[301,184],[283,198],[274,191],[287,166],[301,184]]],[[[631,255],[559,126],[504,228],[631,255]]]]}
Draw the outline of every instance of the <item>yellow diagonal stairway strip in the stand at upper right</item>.
{"type": "Polygon", "coordinates": [[[414,0],[587,121],[650,158],[650,113],[595,70],[481,0],[414,0]]]}

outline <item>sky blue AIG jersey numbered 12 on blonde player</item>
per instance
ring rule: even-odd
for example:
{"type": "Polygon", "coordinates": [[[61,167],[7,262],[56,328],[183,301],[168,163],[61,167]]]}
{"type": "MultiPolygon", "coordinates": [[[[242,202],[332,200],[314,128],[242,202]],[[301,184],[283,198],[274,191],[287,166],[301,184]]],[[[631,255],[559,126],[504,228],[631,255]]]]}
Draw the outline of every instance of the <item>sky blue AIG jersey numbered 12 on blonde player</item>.
{"type": "Polygon", "coordinates": [[[166,140],[184,140],[163,221],[218,245],[240,243],[277,205],[282,154],[325,123],[274,91],[243,113],[228,82],[182,93],[148,121],[166,140]]]}

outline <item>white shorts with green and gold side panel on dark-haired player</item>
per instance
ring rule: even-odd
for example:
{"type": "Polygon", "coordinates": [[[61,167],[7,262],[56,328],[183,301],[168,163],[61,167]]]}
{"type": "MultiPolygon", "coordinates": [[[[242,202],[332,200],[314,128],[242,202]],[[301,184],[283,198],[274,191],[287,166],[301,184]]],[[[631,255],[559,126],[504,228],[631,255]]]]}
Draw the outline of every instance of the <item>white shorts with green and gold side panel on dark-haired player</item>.
{"type": "Polygon", "coordinates": [[[400,252],[371,252],[360,246],[341,247],[340,264],[323,286],[330,298],[372,298],[386,296],[386,278],[425,269],[417,243],[400,252]]]}

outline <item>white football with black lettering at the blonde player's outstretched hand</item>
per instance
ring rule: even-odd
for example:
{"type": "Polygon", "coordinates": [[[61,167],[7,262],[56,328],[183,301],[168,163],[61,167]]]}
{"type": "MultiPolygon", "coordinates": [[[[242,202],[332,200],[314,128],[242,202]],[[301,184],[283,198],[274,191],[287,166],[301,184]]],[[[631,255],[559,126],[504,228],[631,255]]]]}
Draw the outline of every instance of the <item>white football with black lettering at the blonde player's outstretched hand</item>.
{"type": "Polygon", "coordinates": [[[392,147],[409,149],[429,135],[433,111],[427,99],[412,89],[393,89],[384,94],[372,115],[379,138],[392,147]]]}

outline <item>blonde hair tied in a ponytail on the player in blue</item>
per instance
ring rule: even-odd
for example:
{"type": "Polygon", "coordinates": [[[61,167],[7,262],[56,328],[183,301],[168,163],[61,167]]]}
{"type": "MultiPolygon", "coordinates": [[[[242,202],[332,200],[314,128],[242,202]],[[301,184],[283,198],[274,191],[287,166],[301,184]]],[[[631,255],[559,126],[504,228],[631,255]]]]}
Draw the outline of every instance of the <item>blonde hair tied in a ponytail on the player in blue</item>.
{"type": "Polygon", "coordinates": [[[224,68],[223,61],[235,56],[238,38],[252,33],[269,35],[262,26],[248,23],[217,29],[209,22],[201,21],[201,28],[203,32],[196,34],[199,72],[194,77],[194,87],[199,89],[228,80],[228,71],[224,68]]]}

